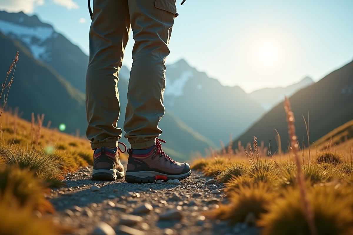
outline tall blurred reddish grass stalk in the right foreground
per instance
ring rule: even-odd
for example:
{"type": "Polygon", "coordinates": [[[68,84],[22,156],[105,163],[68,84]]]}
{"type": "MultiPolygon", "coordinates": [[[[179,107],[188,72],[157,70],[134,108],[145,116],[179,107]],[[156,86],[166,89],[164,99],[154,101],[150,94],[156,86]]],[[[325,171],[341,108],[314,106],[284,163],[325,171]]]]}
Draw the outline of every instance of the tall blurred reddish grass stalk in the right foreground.
{"type": "Polygon", "coordinates": [[[291,104],[287,97],[285,97],[285,111],[287,114],[287,123],[288,123],[288,134],[291,141],[291,148],[293,149],[293,157],[295,163],[297,164],[297,174],[298,174],[298,186],[300,190],[301,202],[303,204],[304,216],[309,225],[310,234],[317,235],[317,230],[314,222],[314,214],[307,197],[307,192],[305,188],[305,180],[303,172],[301,171],[301,162],[299,159],[299,144],[297,141],[297,136],[295,135],[295,126],[294,126],[294,113],[292,112],[291,104]]]}

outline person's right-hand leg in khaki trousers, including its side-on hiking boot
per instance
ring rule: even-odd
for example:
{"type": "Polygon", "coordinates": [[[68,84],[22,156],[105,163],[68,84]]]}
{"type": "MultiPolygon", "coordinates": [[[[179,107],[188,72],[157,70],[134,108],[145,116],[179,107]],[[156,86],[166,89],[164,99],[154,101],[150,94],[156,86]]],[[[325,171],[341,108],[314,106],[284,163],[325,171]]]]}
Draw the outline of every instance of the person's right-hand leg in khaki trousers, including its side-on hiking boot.
{"type": "Polygon", "coordinates": [[[156,138],[162,133],[158,122],[164,115],[165,60],[175,1],[129,0],[129,11],[135,44],[124,123],[132,148],[128,149],[125,181],[185,179],[191,174],[189,164],[171,159],[162,150],[164,141],[156,138]]]}

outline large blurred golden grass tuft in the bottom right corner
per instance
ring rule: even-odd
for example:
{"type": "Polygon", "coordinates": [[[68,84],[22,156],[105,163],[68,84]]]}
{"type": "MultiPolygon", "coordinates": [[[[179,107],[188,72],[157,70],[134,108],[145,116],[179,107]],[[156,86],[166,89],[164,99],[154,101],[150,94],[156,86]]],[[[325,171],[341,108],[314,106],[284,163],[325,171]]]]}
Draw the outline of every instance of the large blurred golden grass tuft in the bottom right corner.
{"type": "MultiPolygon", "coordinates": [[[[339,190],[318,186],[309,191],[317,235],[353,234],[352,197],[347,200],[339,190]]],[[[258,222],[263,235],[310,234],[300,200],[298,189],[288,188],[283,198],[271,204],[258,222]]]]}

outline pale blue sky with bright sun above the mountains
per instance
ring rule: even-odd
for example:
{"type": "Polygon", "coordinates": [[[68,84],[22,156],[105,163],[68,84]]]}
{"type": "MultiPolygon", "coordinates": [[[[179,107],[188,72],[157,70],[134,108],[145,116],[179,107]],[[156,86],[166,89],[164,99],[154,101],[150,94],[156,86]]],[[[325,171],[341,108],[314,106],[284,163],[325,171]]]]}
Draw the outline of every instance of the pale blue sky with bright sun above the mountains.
{"type": "MultiPolygon", "coordinates": [[[[353,59],[352,0],[180,1],[167,63],[184,58],[223,85],[251,92],[317,81],[353,59]]],[[[0,0],[0,9],[36,14],[89,53],[86,0],[0,0]]]]}

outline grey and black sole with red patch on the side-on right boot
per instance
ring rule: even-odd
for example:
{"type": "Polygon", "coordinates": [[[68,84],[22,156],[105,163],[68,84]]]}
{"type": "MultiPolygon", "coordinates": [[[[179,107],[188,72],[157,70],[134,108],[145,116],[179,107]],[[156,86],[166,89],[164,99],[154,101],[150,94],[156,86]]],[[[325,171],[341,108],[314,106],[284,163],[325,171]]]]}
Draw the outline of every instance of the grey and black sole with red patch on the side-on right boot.
{"type": "Polygon", "coordinates": [[[179,175],[167,175],[155,171],[138,171],[138,172],[126,172],[125,181],[127,183],[153,183],[156,180],[183,180],[191,175],[191,170],[188,173],[179,175]]]}

